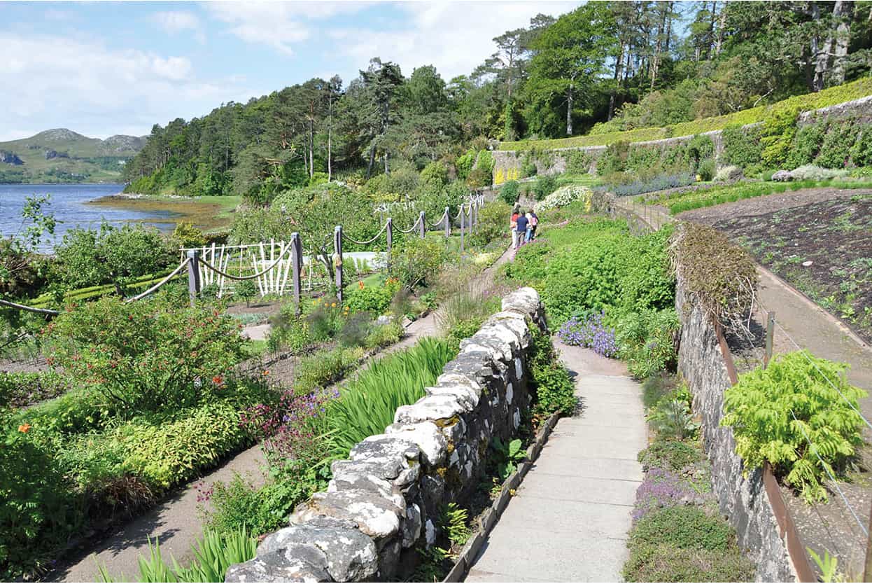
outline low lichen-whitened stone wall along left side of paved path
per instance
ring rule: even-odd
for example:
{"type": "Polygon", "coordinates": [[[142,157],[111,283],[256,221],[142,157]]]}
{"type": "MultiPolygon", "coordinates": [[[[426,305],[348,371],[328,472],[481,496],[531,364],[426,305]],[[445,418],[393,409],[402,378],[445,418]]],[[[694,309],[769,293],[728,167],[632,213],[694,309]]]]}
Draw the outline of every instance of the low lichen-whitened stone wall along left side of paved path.
{"type": "Polygon", "coordinates": [[[514,436],[529,408],[527,348],[545,327],[539,294],[521,288],[480,331],[460,343],[436,386],[397,409],[384,434],[332,465],[327,491],[298,505],[290,526],[257,556],[228,568],[228,582],[390,581],[436,538],[443,505],[475,491],[487,448],[514,436]]]}

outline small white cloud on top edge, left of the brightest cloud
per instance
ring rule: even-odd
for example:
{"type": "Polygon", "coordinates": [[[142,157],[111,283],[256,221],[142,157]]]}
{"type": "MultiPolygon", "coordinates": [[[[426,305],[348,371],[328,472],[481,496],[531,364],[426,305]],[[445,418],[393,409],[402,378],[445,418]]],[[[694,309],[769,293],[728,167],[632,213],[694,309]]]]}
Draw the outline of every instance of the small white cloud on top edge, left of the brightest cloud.
{"type": "Polygon", "coordinates": [[[286,56],[293,45],[308,40],[320,20],[337,14],[357,12],[362,2],[214,2],[206,7],[212,15],[230,25],[229,31],[247,43],[267,45],[286,56]]]}

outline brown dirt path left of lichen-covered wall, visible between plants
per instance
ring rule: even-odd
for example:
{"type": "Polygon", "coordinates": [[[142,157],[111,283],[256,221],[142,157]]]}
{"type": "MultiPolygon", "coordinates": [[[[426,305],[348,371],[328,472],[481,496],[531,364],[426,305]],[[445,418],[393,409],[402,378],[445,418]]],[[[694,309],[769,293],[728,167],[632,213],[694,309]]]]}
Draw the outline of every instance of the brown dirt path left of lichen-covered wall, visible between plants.
{"type": "MultiPolygon", "coordinates": [[[[512,258],[514,258],[514,251],[504,252],[494,265],[473,278],[473,282],[476,285],[493,285],[496,268],[512,258]]],[[[438,334],[438,313],[437,309],[425,318],[412,322],[406,327],[402,340],[374,356],[411,347],[422,338],[438,334]]],[[[365,367],[365,364],[362,367],[365,367]]],[[[65,567],[59,567],[46,580],[98,581],[97,562],[106,565],[109,574],[115,578],[120,578],[124,574],[128,580],[136,579],[140,574],[139,557],[148,554],[148,538],[160,538],[160,552],[165,560],[169,561],[172,555],[181,564],[185,564],[191,560],[191,546],[196,538],[200,537],[202,529],[199,512],[202,504],[197,501],[198,485],[208,487],[215,481],[227,482],[235,473],[248,478],[255,485],[261,485],[265,482],[262,472],[264,462],[260,446],[245,450],[229,459],[221,465],[221,468],[205,477],[194,479],[174,491],[160,505],[156,505],[146,514],[119,527],[105,539],[95,542],[91,553],[87,553],[84,557],[79,556],[65,567]]]]}

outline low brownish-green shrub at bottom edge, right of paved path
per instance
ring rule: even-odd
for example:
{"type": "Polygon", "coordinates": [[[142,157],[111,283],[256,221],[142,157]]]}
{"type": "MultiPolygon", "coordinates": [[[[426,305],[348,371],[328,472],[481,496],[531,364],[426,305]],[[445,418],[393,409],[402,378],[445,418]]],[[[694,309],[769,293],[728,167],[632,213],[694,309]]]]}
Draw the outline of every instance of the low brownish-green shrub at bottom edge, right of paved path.
{"type": "Polygon", "coordinates": [[[754,565],[738,551],[654,544],[632,548],[623,578],[628,582],[749,582],[754,579],[754,565]]]}

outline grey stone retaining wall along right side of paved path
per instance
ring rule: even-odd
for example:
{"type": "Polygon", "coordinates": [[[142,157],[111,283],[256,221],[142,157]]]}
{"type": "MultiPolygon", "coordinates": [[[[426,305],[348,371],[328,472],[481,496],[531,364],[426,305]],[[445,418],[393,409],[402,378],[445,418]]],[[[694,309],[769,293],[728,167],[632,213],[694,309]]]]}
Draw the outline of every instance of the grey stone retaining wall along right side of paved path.
{"type": "Polygon", "coordinates": [[[712,461],[712,485],[720,511],[736,528],[739,546],[757,564],[757,581],[796,581],[787,543],[780,537],[763,486],[763,473],[758,470],[742,476],[744,466],[735,451],[732,428],[720,426],[724,390],[731,383],[714,326],[688,299],[680,283],[675,306],[682,319],[678,371],[691,389],[694,412],[702,417],[703,442],[712,461]]]}

